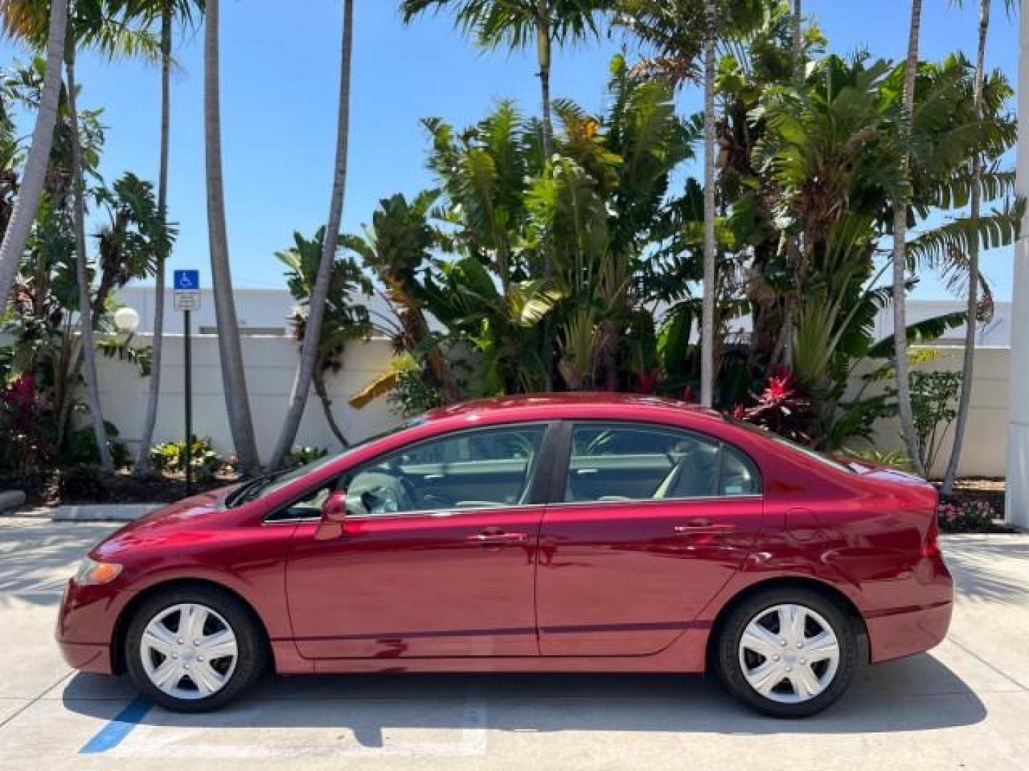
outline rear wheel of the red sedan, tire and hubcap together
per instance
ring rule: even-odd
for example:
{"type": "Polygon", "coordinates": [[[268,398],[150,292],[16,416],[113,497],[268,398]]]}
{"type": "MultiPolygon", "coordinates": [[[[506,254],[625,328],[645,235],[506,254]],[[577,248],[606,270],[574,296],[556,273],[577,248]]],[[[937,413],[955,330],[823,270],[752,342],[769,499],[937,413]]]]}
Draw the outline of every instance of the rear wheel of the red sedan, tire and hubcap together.
{"type": "Polygon", "coordinates": [[[839,699],[857,666],[847,614],[807,589],[770,589],[732,609],[718,638],[728,689],[776,718],[806,718],[839,699]]]}

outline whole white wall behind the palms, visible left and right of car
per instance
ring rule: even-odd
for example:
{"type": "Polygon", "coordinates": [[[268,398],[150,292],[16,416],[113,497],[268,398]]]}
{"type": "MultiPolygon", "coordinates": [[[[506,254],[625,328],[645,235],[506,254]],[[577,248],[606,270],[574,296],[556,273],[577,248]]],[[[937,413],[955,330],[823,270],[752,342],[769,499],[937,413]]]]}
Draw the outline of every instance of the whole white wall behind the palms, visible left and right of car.
{"type": "MultiPolygon", "coordinates": [[[[137,335],[141,344],[148,335],[137,335]]],[[[924,368],[957,370],[961,367],[960,346],[939,348],[939,356],[924,368]]],[[[193,431],[206,436],[222,452],[232,451],[233,441],[225,417],[221,388],[221,367],[217,339],[213,335],[193,335],[193,431]]],[[[340,373],[327,381],[333,414],[347,438],[359,441],[399,423],[385,398],[356,410],[347,399],[363,389],[389,365],[390,342],[374,339],[347,346],[340,373]]],[[[286,398],[297,364],[297,344],[288,337],[254,336],[243,338],[243,358],[253,414],[257,444],[267,458],[285,414],[286,398]]],[[[161,407],[154,441],[181,439],[185,434],[183,413],[182,337],[165,339],[165,366],[162,375],[161,407]]],[[[975,379],[972,405],[959,473],[963,476],[1003,476],[1005,474],[1005,437],[1007,432],[1008,360],[1006,347],[979,347],[975,352],[975,379]]],[[[149,380],[140,377],[134,365],[101,358],[101,400],[104,414],[117,426],[120,438],[134,445],[142,434],[149,380]]],[[[855,382],[855,386],[857,382],[855,382]]],[[[952,434],[948,432],[933,473],[943,474],[950,454],[952,434]]],[[[300,423],[296,444],[339,449],[325,423],[321,404],[312,393],[300,423]]],[[[877,428],[876,446],[889,450],[900,448],[899,431],[894,420],[884,420],[877,428]]]]}

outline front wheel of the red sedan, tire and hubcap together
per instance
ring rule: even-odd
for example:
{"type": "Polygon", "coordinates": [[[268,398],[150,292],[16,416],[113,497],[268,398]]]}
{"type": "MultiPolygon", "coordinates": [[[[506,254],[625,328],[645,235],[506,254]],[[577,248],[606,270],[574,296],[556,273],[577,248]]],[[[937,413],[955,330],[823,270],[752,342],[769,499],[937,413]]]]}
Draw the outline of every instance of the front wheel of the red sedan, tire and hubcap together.
{"type": "Polygon", "coordinates": [[[262,631],[227,592],[176,588],[148,598],[126,633],[126,663],[140,691],[183,712],[217,709],[263,671],[262,631]]]}

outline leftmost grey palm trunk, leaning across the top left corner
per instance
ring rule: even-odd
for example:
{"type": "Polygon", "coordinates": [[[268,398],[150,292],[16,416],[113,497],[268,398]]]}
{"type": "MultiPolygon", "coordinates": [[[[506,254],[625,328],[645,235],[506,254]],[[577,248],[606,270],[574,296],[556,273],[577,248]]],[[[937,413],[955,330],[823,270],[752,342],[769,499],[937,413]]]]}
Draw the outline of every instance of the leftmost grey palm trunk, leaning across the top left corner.
{"type": "Polygon", "coordinates": [[[36,113],[36,127],[32,132],[32,144],[25,162],[22,185],[4,230],[3,244],[0,245],[0,313],[7,307],[10,299],[10,290],[14,286],[25,243],[36,219],[39,196],[42,195],[46,180],[46,166],[50,158],[54,126],[61,101],[61,71],[67,28],[68,4],[51,3],[49,36],[46,40],[46,72],[43,75],[39,111],[36,113]]]}

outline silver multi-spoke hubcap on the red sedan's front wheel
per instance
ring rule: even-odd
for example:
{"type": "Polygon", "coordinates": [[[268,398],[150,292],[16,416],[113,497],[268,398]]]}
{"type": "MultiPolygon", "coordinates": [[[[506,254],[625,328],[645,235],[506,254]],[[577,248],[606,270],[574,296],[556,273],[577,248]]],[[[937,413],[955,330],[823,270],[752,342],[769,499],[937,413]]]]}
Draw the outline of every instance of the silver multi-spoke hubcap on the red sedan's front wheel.
{"type": "Polygon", "coordinates": [[[177,699],[204,699],[233,676],[239,647],[228,623],[210,608],[166,608],[143,630],[139,653],[150,682],[177,699]]]}

